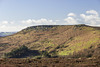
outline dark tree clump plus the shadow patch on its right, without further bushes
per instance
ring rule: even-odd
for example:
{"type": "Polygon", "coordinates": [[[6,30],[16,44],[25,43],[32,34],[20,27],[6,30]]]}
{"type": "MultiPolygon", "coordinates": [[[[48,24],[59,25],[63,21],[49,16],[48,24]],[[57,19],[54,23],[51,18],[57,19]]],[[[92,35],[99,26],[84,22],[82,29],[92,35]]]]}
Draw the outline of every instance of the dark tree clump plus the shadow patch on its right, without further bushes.
{"type": "Polygon", "coordinates": [[[21,46],[17,49],[13,49],[9,53],[5,53],[6,58],[26,58],[29,56],[40,55],[41,52],[38,50],[30,50],[26,46],[21,46]]]}

